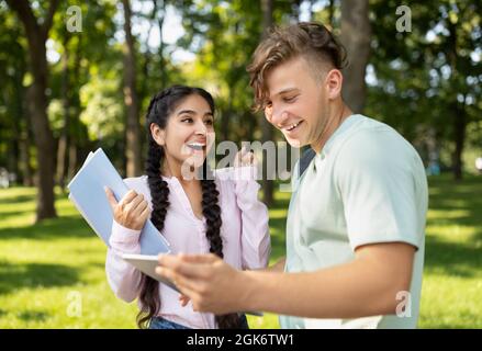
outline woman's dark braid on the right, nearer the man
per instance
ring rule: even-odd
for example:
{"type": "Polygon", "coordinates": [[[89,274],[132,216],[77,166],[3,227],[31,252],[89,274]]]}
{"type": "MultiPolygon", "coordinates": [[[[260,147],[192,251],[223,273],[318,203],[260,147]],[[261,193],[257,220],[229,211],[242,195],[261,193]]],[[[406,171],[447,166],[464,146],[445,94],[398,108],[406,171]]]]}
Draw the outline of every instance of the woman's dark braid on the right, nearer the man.
{"type": "MultiPolygon", "coordinates": [[[[203,168],[208,171],[206,162],[203,168]]],[[[204,172],[206,174],[206,172],[204,172]]],[[[223,240],[221,239],[221,207],[218,205],[217,196],[220,192],[216,189],[216,183],[211,177],[201,180],[202,188],[202,214],[206,219],[206,237],[210,242],[210,252],[224,258],[223,240]]],[[[240,328],[240,319],[238,314],[216,315],[216,322],[220,329],[236,329],[240,328]]]]}

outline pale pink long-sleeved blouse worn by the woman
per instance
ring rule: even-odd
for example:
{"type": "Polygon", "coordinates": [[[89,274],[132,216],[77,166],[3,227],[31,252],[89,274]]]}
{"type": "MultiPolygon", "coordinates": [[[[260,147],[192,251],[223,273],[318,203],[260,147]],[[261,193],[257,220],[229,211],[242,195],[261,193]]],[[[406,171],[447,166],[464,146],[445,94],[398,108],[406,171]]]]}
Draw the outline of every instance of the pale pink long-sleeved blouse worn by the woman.
{"type": "MultiPolygon", "coordinates": [[[[268,210],[258,201],[259,184],[255,180],[255,167],[225,168],[215,171],[220,192],[224,260],[236,269],[266,268],[270,254],[268,210]]],[[[170,244],[172,253],[209,253],[205,219],[198,218],[178,179],[162,179],[169,186],[169,207],[162,235],[170,244]]],[[[147,176],[124,180],[130,189],[143,194],[149,207],[150,191],[147,176]]],[[[110,248],[105,260],[109,284],[114,294],[130,303],[137,298],[141,272],[124,261],[122,253],[139,253],[141,230],[132,230],[117,224],[112,226],[110,248]]],[[[189,303],[182,307],[179,293],[159,283],[161,316],[191,328],[216,328],[213,314],[197,313],[189,303]]],[[[139,302],[141,304],[141,302],[139,302]]]]}

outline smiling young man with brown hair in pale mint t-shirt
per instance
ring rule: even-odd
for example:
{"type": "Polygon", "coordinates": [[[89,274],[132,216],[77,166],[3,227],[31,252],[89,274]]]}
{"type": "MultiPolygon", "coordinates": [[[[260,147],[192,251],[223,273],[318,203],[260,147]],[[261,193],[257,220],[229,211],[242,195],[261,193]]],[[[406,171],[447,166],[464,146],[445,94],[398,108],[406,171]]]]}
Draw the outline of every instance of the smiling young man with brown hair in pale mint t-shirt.
{"type": "Polygon", "coordinates": [[[425,170],[393,128],[341,99],[344,50],[321,24],[274,30],[248,71],[256,104],[314,157],[293,176],[287,257],[237,271],[213,254],[161,256],[193,308],[278,313],[282,328],[415,328],[424,264],[425,170]]]}

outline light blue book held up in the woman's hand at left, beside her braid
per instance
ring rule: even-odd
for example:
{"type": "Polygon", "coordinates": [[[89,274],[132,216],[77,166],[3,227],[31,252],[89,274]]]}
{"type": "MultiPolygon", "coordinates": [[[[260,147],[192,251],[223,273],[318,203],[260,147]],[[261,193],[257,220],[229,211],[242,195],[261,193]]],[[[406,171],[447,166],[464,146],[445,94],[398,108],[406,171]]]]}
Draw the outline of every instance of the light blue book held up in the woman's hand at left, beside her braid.
{"type": "MultiPolygon", "coordinates": [[[[68,184],[69,199],[77,210],[109,246],[113,213],[104,186],[112,190],[117,201],[128,191],[121,176],[104,151],[99,148],[89,154],[86,162],[68,184]]],[[[139,237],[142,254],[169,253],[169,244],[150,220],[147,220],[139,237]]]]}

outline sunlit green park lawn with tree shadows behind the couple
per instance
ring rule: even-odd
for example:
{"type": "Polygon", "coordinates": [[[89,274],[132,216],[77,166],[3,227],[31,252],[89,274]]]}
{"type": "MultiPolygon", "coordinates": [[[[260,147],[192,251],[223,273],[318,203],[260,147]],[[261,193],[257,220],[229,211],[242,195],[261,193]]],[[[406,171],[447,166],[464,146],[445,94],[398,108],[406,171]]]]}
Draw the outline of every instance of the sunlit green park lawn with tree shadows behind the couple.
{"type": "MultiPolygon", "coordinates": [[[[482,328],[482,177],[430,178],[421,328],[482,328]]],[[[137,306],[117,299],[105,247],[66,195],[59,218],[32,225],[35,190],[0,190],[0,328],[135,328],[137,306]]],[[[289,193],[270,210],[271,263],[284,253],[289,193]]],[[[279,328],[274,315],[251,328],[279,328]]]]}

